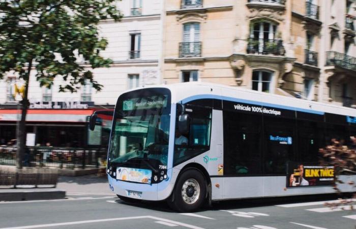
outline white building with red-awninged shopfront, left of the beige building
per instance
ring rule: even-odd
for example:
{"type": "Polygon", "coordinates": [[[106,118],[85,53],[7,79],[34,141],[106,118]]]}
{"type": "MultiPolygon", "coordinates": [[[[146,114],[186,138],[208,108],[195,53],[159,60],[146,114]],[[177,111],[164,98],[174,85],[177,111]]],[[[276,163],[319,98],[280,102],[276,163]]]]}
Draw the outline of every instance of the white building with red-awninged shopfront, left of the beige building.
{"type": "MultiPolygon", "coordinates": [[[[102,56],[113,61],[110,68],[93,70],[94,79],[103,85],[101,92],[88,82],[77,93],[59,93],[64,83],[61,77],[54,79],[51,89],[41,88],[36,72],[32,72],[26,132],[36,134],[36,144],[83,147],[87,144],[87,116],[113,108],[118,96],[128,89],[160,83],[163,2],[124,0],[117,4],[124,14],[122,20],[105,20],[99,25],[100,36],[108,41],[102,56]]],[[[21,84],[16,74],[0,80],[0,145],[16,138],[15,83],[21,84]]],[[[103,121],[103,141],[107,141],[109,123],[103,121]]]]}

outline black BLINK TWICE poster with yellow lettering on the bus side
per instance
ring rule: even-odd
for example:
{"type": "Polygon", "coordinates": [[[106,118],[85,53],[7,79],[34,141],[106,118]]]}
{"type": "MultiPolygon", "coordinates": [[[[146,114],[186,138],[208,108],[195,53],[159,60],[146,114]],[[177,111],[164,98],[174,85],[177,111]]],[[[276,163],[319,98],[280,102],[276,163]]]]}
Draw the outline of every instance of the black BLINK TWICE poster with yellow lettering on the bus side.
{"type": "Polygon", "coordinates": [[[287,187],[332,185],[334,179],[333,166],[298,162],[289,162],[287,166],[287,187]]]}

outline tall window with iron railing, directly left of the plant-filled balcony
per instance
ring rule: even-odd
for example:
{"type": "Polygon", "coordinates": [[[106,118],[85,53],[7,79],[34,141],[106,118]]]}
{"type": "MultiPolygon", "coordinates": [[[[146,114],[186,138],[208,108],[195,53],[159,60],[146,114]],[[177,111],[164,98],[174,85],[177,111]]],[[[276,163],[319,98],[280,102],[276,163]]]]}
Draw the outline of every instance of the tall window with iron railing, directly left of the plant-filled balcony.
{"type": "Polygon", "coordinates": [[[180,57],[201,56],[200,24],[183,25],[183,42],[180,43],[180,57]]]}

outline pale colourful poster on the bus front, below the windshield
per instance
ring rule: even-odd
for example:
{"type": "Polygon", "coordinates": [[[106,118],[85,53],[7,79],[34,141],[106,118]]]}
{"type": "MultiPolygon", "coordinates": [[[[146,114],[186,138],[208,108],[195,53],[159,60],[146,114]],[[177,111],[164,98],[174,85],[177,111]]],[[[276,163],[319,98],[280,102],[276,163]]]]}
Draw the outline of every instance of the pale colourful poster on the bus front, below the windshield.
{"type": "Polygon", "coordinates": [[[137,183],[151,184],[152,171],[141,168],[116,168],[116,179],[121,181],[132,181],[137,183]]]}

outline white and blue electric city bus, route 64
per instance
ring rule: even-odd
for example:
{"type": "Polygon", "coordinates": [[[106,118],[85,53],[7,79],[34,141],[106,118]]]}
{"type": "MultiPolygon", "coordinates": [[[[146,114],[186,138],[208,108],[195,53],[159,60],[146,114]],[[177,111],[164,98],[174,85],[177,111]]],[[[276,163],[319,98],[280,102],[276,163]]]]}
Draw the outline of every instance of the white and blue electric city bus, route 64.
{"type": "Polygon", "coordinates": [[[144,87],[117,99],[106,172],[123,201],[166,200],[181,212],[333,193],[333,167],[320,166],[318,151],[351,136],[352,108],[203,82],[144,87]]]}

